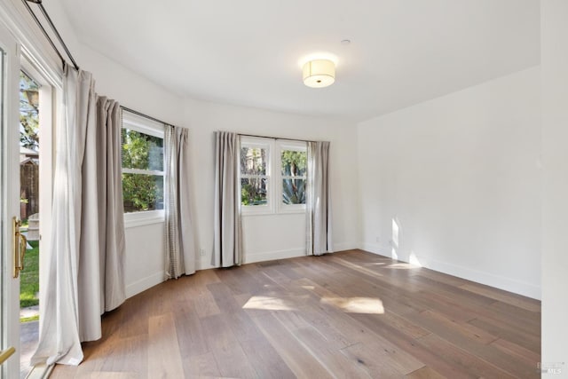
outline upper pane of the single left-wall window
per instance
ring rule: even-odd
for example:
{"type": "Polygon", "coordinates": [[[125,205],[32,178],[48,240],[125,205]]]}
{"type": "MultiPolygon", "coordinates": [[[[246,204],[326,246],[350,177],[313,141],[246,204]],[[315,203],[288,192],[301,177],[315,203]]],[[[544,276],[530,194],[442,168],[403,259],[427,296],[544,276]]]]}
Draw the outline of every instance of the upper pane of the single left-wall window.
{"type": "Polygon", "coordinates": [[[163,171],[163,139],[122,128],[122,167],[163,171]]]}

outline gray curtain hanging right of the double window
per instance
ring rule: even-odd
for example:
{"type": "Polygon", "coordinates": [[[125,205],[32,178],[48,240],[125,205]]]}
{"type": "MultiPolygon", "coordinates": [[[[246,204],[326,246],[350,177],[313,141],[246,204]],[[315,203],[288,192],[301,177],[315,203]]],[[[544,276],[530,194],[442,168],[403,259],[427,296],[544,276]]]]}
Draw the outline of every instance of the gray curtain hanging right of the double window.
{"type": "Polygon", "coordinates": [[[329,142],[308,143],[307,246],[308,255],[333,252],[329,142]]]}

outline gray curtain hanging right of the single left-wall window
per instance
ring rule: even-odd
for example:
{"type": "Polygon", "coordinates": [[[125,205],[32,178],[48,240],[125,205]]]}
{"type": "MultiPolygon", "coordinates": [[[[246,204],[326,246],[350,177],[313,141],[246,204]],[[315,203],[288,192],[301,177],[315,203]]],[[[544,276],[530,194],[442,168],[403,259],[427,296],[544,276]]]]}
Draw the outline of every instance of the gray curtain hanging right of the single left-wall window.
{"type": "Polygon", "coordinates": [[[165,125],[166,161],[166,277],[176,279],[195,272],[192,223],[189,130],[165,125]]]}

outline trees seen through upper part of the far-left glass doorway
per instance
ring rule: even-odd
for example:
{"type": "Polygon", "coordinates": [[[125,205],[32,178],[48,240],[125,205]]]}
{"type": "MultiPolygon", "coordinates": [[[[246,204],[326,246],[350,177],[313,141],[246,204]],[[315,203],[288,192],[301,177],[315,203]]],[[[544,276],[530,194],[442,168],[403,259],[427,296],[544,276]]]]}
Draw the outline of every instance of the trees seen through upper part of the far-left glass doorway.
{"type": "Polygon", "coordinates": [[[39,85],[20,71],[20,146],[39,149],[39,85]]]}

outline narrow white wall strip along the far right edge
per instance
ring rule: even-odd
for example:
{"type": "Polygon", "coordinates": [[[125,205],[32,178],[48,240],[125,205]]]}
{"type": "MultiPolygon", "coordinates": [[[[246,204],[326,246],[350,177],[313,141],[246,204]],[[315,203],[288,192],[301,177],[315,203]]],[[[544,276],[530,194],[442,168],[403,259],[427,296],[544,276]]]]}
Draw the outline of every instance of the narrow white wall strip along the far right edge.
{"type": "Polygon", "coordinates": [[[540,11],[542,362],[562,370],[550,377],[568,378],[568,2],[543,0],[540,11]]]}

